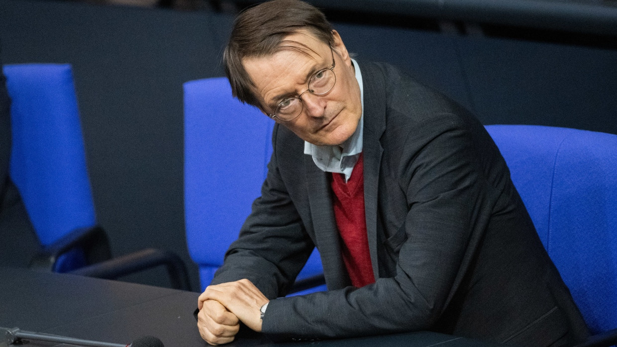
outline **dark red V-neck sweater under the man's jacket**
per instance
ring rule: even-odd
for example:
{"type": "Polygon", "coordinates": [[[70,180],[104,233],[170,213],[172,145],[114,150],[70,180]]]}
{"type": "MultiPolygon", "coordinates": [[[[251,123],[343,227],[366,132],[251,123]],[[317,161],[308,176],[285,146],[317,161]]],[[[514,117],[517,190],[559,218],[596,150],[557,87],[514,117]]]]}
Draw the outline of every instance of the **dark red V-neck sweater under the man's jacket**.
{"type": "Polygon", "coordinates": [[[363,158],[360,153],[347,183],[344,174],[332,174],[334,218],[343,241],[341,247],[343,261],[355,287],[375,282],[366,236],[363,168],[363,158]]]}

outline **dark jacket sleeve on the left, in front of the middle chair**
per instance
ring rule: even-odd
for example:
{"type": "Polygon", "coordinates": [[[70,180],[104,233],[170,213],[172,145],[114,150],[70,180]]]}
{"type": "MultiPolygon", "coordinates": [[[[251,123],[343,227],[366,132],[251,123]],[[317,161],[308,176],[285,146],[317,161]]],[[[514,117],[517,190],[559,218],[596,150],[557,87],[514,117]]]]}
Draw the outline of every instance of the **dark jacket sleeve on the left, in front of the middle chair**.
{"type": "MultiPolygon", "coordinates": [[[[273,141],[277,131],[278,125],[273,141]]],[[[254,201],[212,284],[249,279],[267,298],[276,298],[288,292],[313,248],[273,154],[261,196],[254,201]]]]}

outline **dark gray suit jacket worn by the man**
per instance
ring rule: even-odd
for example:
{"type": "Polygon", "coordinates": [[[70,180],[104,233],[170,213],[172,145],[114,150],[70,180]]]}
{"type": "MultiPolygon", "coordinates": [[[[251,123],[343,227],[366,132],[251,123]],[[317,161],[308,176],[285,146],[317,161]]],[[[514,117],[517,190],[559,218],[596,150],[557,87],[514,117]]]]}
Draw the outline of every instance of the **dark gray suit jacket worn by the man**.
{"type": "Polygon", "coordinates": [[[366,224],[376,283],[350,287],[331,173],[283,126],[252,214],[213,284],[284,295],[313,245],[328,292],[270,301],[263,332],[329,338],[434,330],[512,345],[586,337],[505,161],[470,113],[389,65],[364,81],[366,224]]]}

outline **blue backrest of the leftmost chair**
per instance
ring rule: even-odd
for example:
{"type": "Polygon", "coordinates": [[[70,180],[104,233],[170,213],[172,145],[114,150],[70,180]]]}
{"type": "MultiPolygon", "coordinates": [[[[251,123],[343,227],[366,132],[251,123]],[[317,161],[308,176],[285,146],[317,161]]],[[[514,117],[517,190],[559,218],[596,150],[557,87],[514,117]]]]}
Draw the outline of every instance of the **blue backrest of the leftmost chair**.
{"type": "Polygon", "coordinates": [[[10,178],[41,244],[50,245],[96,224],[71,67],[16,64],[3,70],[12,101],[10,178]]]}

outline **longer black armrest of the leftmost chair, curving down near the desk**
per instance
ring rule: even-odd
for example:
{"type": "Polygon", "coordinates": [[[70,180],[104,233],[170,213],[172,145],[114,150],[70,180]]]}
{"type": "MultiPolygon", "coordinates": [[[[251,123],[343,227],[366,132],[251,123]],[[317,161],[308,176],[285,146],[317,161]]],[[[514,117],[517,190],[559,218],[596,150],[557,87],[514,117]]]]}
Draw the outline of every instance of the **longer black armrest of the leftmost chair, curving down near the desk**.
{"type": "Polygon", "coordinates": [[[182,259],[170,251],[155,248],[146,248],[128,255],[117,256],[101,263],[80,267],[69,273],[99,279],[117,279],[120,276],[159,265],[165,265],[167,268],[173,288],[191,290],[188,271],[182,259]]]}

